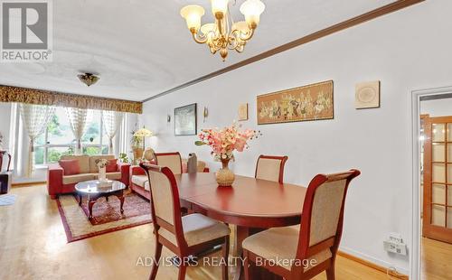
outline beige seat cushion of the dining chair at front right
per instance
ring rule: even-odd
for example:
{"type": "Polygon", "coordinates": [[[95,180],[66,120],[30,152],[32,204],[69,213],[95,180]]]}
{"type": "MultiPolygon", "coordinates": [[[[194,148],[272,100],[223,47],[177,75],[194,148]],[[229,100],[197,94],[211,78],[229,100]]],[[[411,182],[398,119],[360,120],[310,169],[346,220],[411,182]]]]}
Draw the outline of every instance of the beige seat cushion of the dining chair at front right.
{"type": "MultiPolygon", "coordinates": [[[[264,230],[243,240],[242,247],[291,270],[297,256],[299,231],[300,225],[264,230]]],[[[315,259],[316,264],[320,264],[332,256],[330,249],[326,249],[309,258],[307,263],[310,264],[311,260],[315,259]]],[[[312,267],[314,266],[306,267],[305,271],[312,267]]]]}

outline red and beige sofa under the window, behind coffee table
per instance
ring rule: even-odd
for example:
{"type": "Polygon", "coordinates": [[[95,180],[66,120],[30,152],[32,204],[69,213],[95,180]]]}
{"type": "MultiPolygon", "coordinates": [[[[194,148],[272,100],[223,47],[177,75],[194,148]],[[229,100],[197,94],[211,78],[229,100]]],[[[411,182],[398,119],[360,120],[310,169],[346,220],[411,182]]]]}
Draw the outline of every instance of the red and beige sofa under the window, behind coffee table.
{"type": "MultiPolygon", "coordinates": [[[[80,173],[65,174],[60,163],[49,165],[47,172],[47,190],[52,199],[56,199],[57,195],[62,193],[71,193],[75,191],[75,184],[78,182],[98,179],[99,169],[96,160],[107,159],[114,160],[115,155],[63,155],[61,161],[77,160],[80,167],[80,173]]],[[[129,183],[129,163],[116,163],[114,172],[108,172],[107,178],[110,180],[120,181],[128,186],[129,183]]]]}

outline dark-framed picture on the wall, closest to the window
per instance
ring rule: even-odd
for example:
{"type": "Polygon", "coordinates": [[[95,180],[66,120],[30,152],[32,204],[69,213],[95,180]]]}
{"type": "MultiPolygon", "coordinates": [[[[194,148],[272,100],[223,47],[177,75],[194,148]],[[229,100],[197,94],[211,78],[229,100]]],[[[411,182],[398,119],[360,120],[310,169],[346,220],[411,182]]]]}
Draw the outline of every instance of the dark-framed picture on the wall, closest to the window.
{"type": "Polygon", "coordinates": [[[196,135],[196,119],[196,103],[174,108],[174,135],[196,135]]]}

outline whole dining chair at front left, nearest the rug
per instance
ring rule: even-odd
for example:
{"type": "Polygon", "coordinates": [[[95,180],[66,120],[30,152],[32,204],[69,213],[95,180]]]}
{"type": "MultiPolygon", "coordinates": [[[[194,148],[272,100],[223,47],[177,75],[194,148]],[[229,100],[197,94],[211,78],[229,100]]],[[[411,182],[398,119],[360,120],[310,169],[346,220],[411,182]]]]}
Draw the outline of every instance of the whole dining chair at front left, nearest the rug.
{"type": "Polygon", "coordinates": [[[168,167],[151,163],[140,163],[140,166],[150,182],[151,217],[155,229],[155,263],[149,279],[155,279],[163,246],[179,257],[178,279],[183,280],[191,256],[219,245],[223,257],[221,279],[228,279],[229,227],[201,214],[182,217],[173,172],[168,167]]]}

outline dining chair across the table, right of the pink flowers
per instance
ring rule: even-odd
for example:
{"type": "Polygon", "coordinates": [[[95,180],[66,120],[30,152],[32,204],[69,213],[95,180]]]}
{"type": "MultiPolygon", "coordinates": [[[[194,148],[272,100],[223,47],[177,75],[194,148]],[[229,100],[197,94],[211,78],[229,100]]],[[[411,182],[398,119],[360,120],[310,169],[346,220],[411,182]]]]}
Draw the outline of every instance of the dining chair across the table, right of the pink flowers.
{"type": "Polygon", "coordinates": [[[263,179],[273,182],[283,183],[284,165],[287,162],[287,155],[264,155],[260,154],[256,163],[256,179],[263,179]]]}

